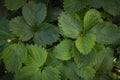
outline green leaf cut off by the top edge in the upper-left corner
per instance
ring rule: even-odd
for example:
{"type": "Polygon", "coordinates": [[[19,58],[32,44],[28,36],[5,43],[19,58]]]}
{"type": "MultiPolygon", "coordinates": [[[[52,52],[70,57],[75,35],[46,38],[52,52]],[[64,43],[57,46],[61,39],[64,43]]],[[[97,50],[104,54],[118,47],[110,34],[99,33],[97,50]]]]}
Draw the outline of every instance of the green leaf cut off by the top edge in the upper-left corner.
{"type": "Polygon", "coordinates": [[[26,0],[5,0],[5,6],[10,10],[17,10],[26,3],[26,0]]]}

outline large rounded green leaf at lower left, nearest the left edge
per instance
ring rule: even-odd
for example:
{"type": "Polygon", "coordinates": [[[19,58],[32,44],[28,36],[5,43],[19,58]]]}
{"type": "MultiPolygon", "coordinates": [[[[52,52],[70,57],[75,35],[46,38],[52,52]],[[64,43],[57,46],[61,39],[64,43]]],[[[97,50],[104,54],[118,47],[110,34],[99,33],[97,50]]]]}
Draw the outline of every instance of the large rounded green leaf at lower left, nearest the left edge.
{"type": "Polygon", "coordinates": [[[23,44],[12,44],[3,52],[5,67],[9,72],[20,69],[26,57],[27,49],[23,44]]]}

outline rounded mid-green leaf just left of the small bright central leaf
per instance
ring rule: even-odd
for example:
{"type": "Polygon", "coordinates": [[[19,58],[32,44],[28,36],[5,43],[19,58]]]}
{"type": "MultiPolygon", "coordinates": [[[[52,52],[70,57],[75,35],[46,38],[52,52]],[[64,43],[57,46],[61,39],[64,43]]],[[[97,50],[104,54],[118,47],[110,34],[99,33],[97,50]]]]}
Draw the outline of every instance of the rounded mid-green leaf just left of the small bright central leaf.
{"type": "Polygon", "coordinates": [[[58,44],[53,51],[54,56],[60,60],[71,59],[71,57],[73,55],[71,53],[72,46],[73,46],[73,41],[71,41],[71,40],[61,41],[60,44],[58,44]]]}

